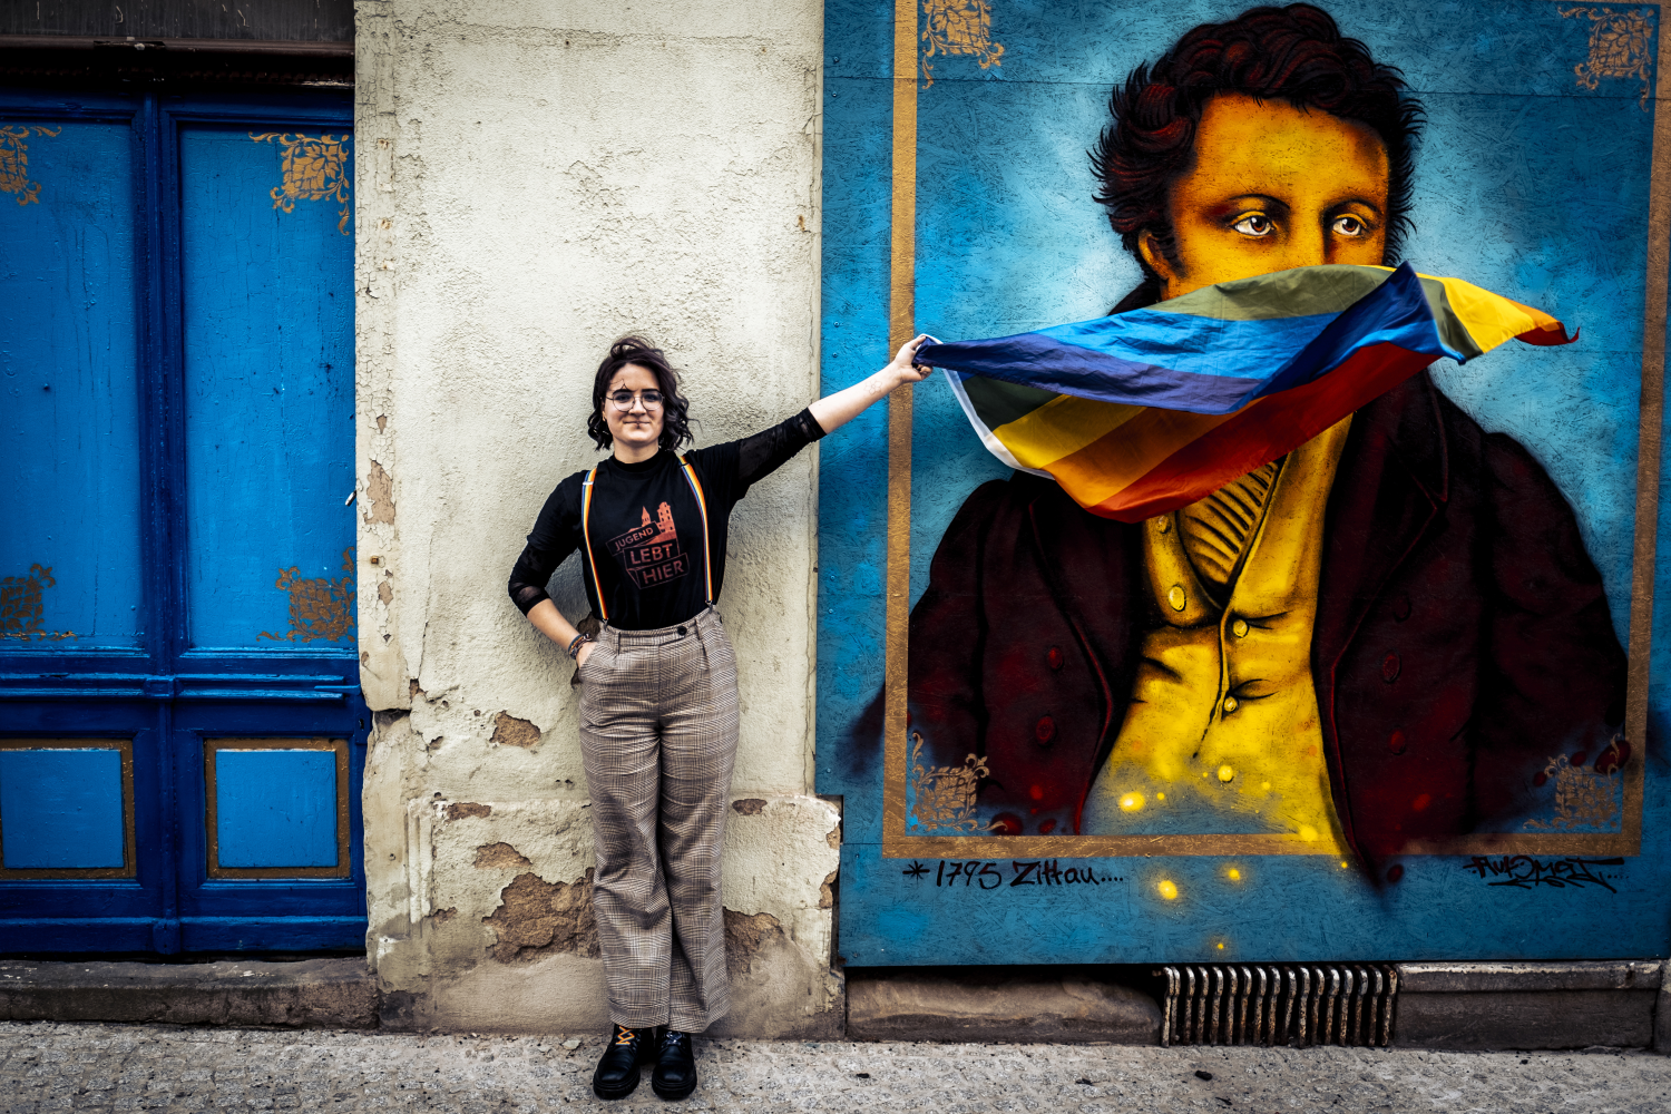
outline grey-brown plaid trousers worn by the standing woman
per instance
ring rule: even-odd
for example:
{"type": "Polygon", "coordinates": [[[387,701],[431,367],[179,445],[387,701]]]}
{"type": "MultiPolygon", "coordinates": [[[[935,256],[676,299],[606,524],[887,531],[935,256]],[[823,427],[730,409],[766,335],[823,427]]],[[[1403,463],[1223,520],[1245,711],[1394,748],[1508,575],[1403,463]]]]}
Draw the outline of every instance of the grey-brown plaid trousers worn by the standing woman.
{"type": "Polygon", "coordinates": [[[737,655],[719,611],[598,631],[580,668],[580,753],[610,1020],[702,1032],[730,1009],[720,843],[737,758],[737,655]]]}

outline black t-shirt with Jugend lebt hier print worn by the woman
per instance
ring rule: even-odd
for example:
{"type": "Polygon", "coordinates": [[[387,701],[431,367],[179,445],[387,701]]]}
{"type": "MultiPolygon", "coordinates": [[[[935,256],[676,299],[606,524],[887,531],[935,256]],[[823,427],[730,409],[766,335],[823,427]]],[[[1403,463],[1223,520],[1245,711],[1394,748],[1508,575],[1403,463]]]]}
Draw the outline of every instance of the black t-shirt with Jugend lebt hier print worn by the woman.
{"type": "Polygon", "coordinates": [[[663,449],[637,464],[612,456],[598,466],[592,484],[590,553],[582,543],[580,523],[587,473],[568,476],[545,501],[511,570],[511,600],[526,615],[548,598],[545,585],[556,566],[582,549],[593,615],[618,630],[683,623],[705,606],[710,570],[719,600],[730,513],[749,493],[749,484],[822,436],[812,411],[800,411],[752,438],[687,453],[709,508],[707,546],[697,494],[675,454],[663,449]],[[598,606],[600,586],[603,608],[598,606]]]}

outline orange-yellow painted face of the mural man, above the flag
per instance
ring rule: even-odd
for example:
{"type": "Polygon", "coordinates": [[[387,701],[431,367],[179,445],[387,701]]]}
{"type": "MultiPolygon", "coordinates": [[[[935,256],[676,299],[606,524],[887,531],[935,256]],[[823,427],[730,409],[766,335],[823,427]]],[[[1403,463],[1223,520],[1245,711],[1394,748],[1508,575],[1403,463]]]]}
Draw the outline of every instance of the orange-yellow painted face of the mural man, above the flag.
{"type": "Polygon", "coordinates": [[[1387,149],[1369,125],[1223,94],[1168,197],[1176,259],[1148,232],[1138,247],[1166,297],[1290,267],[1380,264],[1387,185],[1387,149]]]}

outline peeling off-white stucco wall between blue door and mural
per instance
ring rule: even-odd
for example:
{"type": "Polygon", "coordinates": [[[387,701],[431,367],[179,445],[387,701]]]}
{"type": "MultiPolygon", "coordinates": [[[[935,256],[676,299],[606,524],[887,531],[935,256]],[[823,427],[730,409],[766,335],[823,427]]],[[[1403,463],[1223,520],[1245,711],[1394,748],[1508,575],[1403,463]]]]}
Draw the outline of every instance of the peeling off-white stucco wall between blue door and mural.
{"type": "MultiPolygon", "coordinates": [[[[592,865],[578,690],[505,581],[550,489],[598,459],[590,381],[615,336],[642,331],[688,371],[698,444],[814,397],[822,7],[358,12],[368,945],[386,1024],[603,1024],[570,915],[592,865]]],[[[725,904],[754,987],[732,1032],[839,1015],[837,817],[810,797],[814,468],[804,453],[732,518],[725,904]]],[[[575,561],[553,596],[585,613],[575,561]]]]}

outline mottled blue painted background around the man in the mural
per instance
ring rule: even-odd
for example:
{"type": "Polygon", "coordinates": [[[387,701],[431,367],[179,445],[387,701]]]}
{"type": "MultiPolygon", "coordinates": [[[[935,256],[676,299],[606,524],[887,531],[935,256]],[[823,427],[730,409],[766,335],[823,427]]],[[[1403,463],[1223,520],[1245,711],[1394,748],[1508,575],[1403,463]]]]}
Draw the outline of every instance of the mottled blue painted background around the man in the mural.
{"type": "MultiPolygon", "coordinates": [[[[1138,281],[1086,150],[1115,82],[1186,28],[1245,3],[994,3],[1003,63],[939,57],[917,102],[916,324],[941,337],[1105,314],[1138,281]]],[[[1404,257],[1582,329],[1435,377],[1487,429],[1526,444],[1577,509],[1621,641],[1629,576],[1653,102],[1641,80],[1574,78],[1592,23],[1571,5],[1328,3],[1345,33],[1404,68],[1429,115],[1404,257]]],[[[1621,8],[1624,10],[1624,8],[1621,8]]],[[[825,5],[824,389],[887,361],[892,5],[825,5]]],[[[1006,474],[944,382],[914,396],[912,593],[968,493],[1006,474]]],[[[1608,885],[1494,887],[1465,858],[1407,858],[1369,890],[1318,857],[1155,855],[1061,862],[1098,882],[981,890],[881,858],[881,772],[842,738],[882,680],[886,413],[820,446],[819,792],[846,798],[841,950],[852,964],[1664,955],[1671,820],[1659,750],[1666,620],[1656,623],[1644,853],[1608,885]],[[1230,870],[1237,870],[1232,880],[1230,870]],[[1161,879],[1183,897],[1156,895],[1161,879]],[[1609,889],[1611,887],[1611,892],[1609,889]],[[1223,947],[1220,947],[1223,945],[1223,947]]],[[[1671,491],[1671,489],[1668,489],[1671,491]]],[[[1661,494],[1661,508],[1668,493],[1661,494]]],[[[1661,513],[1661,523],[1666,521],[1661,513]]],[[[1671,536],[1661,524],[1661,553],[1671,536]]],[[[1664,565],[1664,563],[1661,563],[1664,565]]],[[[1658,593],[1671,590],[1661,575],[1658,593]]],[[[1661,615],[1666,608],[1659,608],[1661,615]]],[[[1004,868],[1006,882],[1009,863],[1004,868]]]]}

